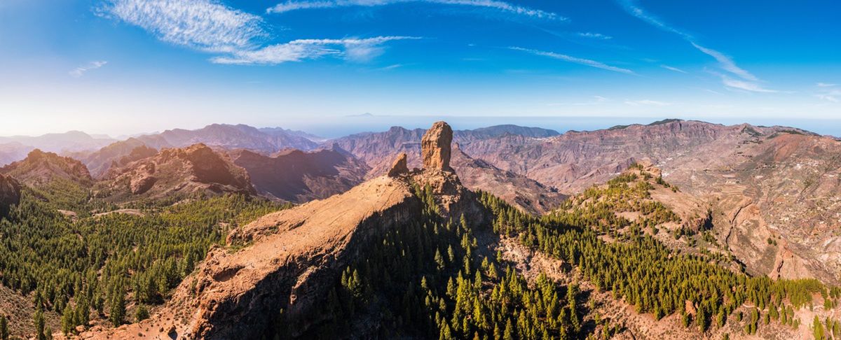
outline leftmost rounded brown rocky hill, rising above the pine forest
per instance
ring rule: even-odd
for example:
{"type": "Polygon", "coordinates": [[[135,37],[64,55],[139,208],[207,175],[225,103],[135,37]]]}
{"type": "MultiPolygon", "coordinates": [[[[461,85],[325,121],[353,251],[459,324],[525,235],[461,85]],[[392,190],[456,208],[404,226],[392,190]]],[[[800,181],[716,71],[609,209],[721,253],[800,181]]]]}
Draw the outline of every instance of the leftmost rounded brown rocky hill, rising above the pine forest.
{"type": "Polygon", "coordinates": [[[0,168],[0,174],[11,175],[29,186],[43,186],[53,180],[71,180],[91,186],[93,178],[87,167],[78,160],[34,149],[24,160],[0,168]]]}

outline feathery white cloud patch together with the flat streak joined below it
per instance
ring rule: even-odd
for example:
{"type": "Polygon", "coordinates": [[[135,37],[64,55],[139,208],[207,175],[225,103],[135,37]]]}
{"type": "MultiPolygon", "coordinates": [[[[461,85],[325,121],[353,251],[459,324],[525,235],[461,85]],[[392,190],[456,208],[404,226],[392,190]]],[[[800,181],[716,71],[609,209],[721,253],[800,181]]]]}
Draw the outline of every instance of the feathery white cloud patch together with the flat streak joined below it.
{"type": "Polygon", "coordinates": [[[297,39],[266,45],[264,41],[271,35],[263,29],[261,17],[217,0],[108,0],[97,13],[139,26],[167,43],[218,54],[210,59],[217,64],[277,65],[325,55],[367,62],[383,54],[382,44],[386,42],[418,39],[297,39]]]}

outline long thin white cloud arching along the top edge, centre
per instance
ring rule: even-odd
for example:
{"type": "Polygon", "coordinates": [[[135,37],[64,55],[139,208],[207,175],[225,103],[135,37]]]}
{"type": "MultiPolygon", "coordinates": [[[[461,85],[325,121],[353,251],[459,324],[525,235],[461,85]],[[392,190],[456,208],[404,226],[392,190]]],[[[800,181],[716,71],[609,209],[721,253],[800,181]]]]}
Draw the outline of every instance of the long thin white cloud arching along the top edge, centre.
{"type": "Polygon", "coordinates": [[[278,3],[266,10],[267,13],[286,13],[300,9],[316,8],[341,8],[341,7],[375,7],[386,6],[396,3],[437,3],[444,5],[473,6],[479,8],[491,8],[505,13],[524,15],[532,18],[545,18],[553,20],[567,20],[557,13],[546,12],[540,9],[527,8],[511,3],[496,0],[304,0],[287,1],[278,3]]]}

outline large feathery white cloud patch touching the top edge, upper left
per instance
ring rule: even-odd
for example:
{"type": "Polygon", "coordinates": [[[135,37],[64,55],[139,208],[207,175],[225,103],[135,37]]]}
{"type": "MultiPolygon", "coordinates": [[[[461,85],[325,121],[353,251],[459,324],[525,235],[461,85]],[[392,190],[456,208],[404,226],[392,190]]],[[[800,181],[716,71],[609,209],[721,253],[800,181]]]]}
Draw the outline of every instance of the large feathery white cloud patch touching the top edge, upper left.
{"type": "Polygon", "coordinates": [[[168,43],[207,52],[249,49],[255,40],[267,37],[262,18],[214,0],[108,0],[99,13],[168,43]]]}

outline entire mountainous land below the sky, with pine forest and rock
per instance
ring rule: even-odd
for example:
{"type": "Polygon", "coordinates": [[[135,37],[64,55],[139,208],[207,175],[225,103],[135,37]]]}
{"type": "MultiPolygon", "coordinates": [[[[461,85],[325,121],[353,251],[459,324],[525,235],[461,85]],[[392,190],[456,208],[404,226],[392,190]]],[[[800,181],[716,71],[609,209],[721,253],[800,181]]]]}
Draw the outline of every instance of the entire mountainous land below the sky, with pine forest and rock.
{"type": "Polygon", "coordinates": [[[828,137],[680,120],[178,133],[0,168],[13,336],[841,332],[828,137]]]}

